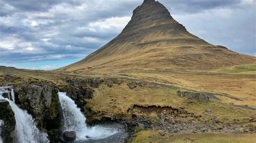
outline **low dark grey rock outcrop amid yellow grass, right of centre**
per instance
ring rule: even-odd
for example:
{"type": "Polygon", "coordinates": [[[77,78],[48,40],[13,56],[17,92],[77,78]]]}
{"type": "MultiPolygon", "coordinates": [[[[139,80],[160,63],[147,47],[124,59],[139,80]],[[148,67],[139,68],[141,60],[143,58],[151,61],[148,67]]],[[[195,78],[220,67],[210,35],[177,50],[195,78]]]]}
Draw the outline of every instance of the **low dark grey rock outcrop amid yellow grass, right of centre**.
{"type": "Polygon", "coordinates": [[[177,91],[177,95],[180,97],[186,97],[189,100],[198,99],[201,103],[207,103],[209,98],[204,92],[189,92],[189,91],[177,91]]]}

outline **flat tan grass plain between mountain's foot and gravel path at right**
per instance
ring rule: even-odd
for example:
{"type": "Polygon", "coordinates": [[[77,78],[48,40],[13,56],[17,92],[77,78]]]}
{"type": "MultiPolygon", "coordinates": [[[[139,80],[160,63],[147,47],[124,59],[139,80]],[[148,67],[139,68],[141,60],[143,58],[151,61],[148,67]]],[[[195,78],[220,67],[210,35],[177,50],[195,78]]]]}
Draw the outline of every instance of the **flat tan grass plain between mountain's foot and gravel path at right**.
{"type": "Polygon", "coordinates": [[[256,108],[255,74],[214,74],[214,73],[179,73],[179,72],[126,72],[119,75],[161,84],[174,85],[185,89],[208,91],[215,94],[241,99],[235,100],[218,96],[226,103],[248,105],[256,108]]]}

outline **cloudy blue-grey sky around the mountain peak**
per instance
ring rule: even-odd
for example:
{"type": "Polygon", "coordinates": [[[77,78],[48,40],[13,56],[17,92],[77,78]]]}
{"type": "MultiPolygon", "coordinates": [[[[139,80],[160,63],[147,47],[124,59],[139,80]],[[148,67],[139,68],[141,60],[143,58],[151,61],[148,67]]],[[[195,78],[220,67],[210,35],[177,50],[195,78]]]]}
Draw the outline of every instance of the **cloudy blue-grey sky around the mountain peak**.
{"type": "MultiPolygon", "coordinates": [[[[187,30],[256,55],[256,0],[159,0],[187,30]]],[[[0,65],[55,69],[116,37],[143,0],[0,0],[0,65]]]]}

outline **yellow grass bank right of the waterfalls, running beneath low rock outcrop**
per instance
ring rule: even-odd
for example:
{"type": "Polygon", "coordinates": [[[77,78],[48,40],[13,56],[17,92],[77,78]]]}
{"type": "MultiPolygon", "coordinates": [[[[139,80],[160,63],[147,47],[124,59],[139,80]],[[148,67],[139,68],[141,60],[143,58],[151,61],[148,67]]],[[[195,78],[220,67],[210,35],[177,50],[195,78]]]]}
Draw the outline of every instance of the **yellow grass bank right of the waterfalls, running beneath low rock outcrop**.
{"type": "Polygon", "coordinates": [[[236,108],[224,102],[210,100],[207,104],[194,101],[188,104],[185,98],[176,95],[179,88],[159,87],[129,89],[125,84],[114,85],[109,88],[103,85],[95,89],[92,99],[87,100],[87,107],[97,115],[95,117],[131,117],[127,112],[133,105],[156,105],[171,106],[172,108],[183,108],[187,112],[201,115],[205,120],[210,120],[210,116],[204,114],[206,109],[212,110],[213,116],[227,123],[247,122],[251,118],[256,118],[256,111],[236,108]]]}

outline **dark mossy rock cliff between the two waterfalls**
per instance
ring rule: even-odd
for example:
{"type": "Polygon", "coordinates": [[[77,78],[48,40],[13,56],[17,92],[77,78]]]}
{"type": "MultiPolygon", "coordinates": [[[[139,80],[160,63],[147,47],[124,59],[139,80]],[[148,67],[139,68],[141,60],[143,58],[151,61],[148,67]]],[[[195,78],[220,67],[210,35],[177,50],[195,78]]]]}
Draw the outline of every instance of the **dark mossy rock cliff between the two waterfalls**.
{"type": "MultiPolygon", "coordinates": [[[[60,126],[58,89],[48,85],[17,85],[14,87],[16,104],[35,118],[37,126],[56,133],[60,126]]],[[[55,135],[49,134],[50,139],[55,135]]]]}

